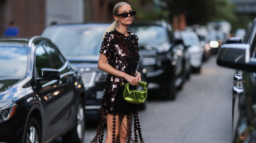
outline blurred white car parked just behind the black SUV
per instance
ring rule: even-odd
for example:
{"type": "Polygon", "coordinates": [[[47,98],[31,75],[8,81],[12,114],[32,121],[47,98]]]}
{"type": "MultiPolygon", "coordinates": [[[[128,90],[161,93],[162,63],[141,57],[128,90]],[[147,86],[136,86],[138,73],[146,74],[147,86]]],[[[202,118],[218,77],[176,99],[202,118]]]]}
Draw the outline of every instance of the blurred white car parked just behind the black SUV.
{"type": "Polygon", "coordinates": [[[189,64],[192,71],[200,73],[203,63],[203,46],[198,35],[193,31],[180,31],[181,38],[189,53],[189,64]]]}

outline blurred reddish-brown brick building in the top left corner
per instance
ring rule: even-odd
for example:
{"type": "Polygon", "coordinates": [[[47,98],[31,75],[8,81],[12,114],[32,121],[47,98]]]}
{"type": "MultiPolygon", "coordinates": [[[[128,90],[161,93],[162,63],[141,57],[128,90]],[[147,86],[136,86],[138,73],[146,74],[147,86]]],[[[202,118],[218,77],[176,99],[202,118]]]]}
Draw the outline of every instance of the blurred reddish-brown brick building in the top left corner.
{"type": "Polygon", "coordinates": [[[21,36],[34,36],[45,26],[45,0],[0,0],[0,35],[14,21],[21,36]]]}

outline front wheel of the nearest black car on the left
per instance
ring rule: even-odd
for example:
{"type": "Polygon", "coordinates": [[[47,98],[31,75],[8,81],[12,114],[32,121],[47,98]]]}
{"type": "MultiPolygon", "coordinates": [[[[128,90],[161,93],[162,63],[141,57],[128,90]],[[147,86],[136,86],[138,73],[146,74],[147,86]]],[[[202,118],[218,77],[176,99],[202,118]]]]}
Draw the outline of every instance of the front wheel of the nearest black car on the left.
{"type": "Polygon", "coordinates": [[[24,143],[41,143],[41,130],[34,117],[30,117],[25,129],[24,143]]]}

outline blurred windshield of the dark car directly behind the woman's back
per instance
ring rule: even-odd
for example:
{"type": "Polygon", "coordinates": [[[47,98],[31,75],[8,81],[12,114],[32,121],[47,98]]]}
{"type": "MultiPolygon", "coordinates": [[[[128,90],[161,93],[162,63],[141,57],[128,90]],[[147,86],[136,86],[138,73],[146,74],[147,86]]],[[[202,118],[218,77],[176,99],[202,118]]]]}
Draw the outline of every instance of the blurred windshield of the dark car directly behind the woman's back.
{"type": "Polygon", "coordinates": [[[65,56],[99,55],[109,25],[49,27],[42,36],[52,40],[65,56]]]}

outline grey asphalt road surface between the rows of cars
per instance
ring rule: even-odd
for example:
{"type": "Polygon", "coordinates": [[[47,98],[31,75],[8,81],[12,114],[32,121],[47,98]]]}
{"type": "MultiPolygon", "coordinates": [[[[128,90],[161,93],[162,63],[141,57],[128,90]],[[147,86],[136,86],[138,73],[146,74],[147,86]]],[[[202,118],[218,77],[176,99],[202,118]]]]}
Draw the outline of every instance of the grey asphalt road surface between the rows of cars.
{"type": "MultiPolygon", "coordinates": [[[[211,56],[200,74],[191,74],[176,100],[150,98],[146,110],[139,111],[144,142],[230,143],[233,73],[217,66],[216,56],[211,56]]],[[[96,134],[96,120],[87,122],[84,143],[96,134]]]]}

